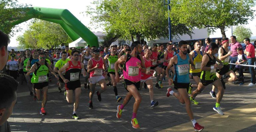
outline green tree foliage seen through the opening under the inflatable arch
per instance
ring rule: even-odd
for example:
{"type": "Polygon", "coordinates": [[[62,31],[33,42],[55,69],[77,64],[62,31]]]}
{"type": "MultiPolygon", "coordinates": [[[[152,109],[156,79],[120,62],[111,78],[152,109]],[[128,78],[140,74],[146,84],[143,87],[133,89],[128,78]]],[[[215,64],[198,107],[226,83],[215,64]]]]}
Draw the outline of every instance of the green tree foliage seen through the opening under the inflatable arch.
{"type": "Polygon", "coordinates": [[[31,21],[28,30],[17,41],[19,46],[33,49],[50,49],[72,42],[59,24],[38,19],[31,21]]]}

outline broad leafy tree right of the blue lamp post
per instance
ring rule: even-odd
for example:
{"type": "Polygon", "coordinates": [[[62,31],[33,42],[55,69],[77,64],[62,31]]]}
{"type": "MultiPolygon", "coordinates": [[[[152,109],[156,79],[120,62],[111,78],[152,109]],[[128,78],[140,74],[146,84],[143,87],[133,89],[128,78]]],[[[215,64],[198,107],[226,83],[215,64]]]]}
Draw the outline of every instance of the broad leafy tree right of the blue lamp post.
{"type": "Polygon", "coordinates": [[[225,29],[232,25],[248,24],[254,18],[254,0],[171,0],[171,20],[198,28],[208,27],[212,33],[220,29],[225,38],[225,29]]]}

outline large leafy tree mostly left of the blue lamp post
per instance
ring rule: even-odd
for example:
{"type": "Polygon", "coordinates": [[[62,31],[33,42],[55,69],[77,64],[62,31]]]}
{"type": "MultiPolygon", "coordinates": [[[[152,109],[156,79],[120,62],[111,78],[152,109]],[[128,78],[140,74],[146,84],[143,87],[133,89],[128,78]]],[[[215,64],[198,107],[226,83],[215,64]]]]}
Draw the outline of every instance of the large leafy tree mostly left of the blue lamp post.
{"type": "MultiPolygon", "coordinates": [[[[96,8],[88,7],[85,13],[106,33],[114,31],[120,38],[132,41],[168,37],[167,8],[161,0],[97,0],[92,4],[96,8]]],[[[191,26],[172,22],[172,36],[191,35],[191,26]]]]}

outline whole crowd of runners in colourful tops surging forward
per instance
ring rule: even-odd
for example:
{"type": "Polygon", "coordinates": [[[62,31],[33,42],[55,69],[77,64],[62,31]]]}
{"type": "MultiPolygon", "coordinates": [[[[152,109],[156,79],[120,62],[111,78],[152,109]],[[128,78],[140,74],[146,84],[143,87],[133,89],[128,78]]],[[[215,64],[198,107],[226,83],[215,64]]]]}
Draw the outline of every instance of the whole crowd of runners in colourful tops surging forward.
{"type": "MultiPolygon", "coordinates": [[[[236,81],[235,71],[239,70],[240,85],[244,84],[242,68],[231,66],[230,58],[232,61],[232,55],[236,54],[236,61],[233,62],[236,64],[242,64],[250,58],[254,58],[255,61],[255,53],[254,50],[253,53],[251,51],[250,40],[244,39],[249,48],[246,46],[246,49],[243,50],[238,45],[237,48],[233,48],[236,51],[234,53],[232,46],[237,41],[233,39],[235,36],[231,36],[231,44],[229,44],[228,38],[216,39],[216,43],[212,43],[209,38],[206,38],[206,46],[203,46],[204,43],[201,41],[196,41],[192,51],[187,41],[180,41],[178,45],[169,42],[166,44],[166,48],[163,44],[154,44],[152,47],[148,47],[146,42],[141,44],[139,41],[135,41],[131,46],[123,45],[122,47],[116,45],[104,48],[86,46],[71,50],[68,46],[62,46],[60,49],[26,49],[25,51],[12,49],[9,53],[6,72],[14,79],[20,76],[20,83],[27,83],[29,94],[33,96],[33,100],[42,99],[40,109],[42,115],[47,115],[45,107],[48,100],[48,86],[53,77],[58,80],[59,92],[64,91],[67,102],[74,103],[72,113],[74,119],[79,119],[77,108],[81,95],[80,78],[85,78],[84,88],[90,89],[89,109],[93,109],[94,93],[96,92],[97,101],[100,102],[101,95],[107,86],[112,86],[115,93],[113,100],[122,101],[117,106],[117,118],[121,118],[122,110],[134,97],[131,119],[133,128],[140,127],[136,118],[142,100],[139,90],[142,87],[148,88],[149,105],[156,107],[159,102],[154,100],[153,89],[154,87],[163,88],[162,82],[167,80],[170,86],[166,96],[173,95],[180,103],[185,104],[195,131],[201,131],[204,127],[196,122],[191,108],[191,104],[199,104],[195,100],[196,95],[200,94],[207,85],[212,84],[212,90],[209,93],[212,98],[216,98],[213,110],[224,115],[220,103],[225,83],[236,81]],[[228,49],[229,47],[231,47],[231,51],[228,49]],[[247,58],[243,53],[247,55],[247,58]],[[156,76],[155,85],[152,80],[153,74],[156,76]],[[195,84],[190,83],[190,79],[193,79],[195,84]],[[123,88],[117,87],[117,82],[120,81],[123,81],[123,87],[127,90],[125,97],[118,95],[118,89],[123,88]],[[95,91],[97,83],[100,90],[95,91]],[[192,90],[193,88],[194,90],[192,90]],[[177,89],[178,92],[173,89],[177,89]],[[217,94],[215,94],[215,89],[218,90],[217,94]]],[[[253,68],[250,68],[251,70],[254,75],[252,75],[249,86],[255,86],[255,72],[253,68]]]]}

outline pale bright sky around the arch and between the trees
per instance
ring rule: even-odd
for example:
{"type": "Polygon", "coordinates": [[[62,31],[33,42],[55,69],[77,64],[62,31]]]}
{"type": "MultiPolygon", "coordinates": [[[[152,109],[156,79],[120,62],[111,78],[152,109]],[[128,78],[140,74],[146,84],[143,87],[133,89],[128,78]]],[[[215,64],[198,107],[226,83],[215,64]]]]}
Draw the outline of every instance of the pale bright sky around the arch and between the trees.
{"type": "MultiPolygon", "coordinates": [[[[86,11],[86,6],[93,6],[91,4],[93,0],[19,0],[19,3],[22,4],[31,4],[33,7],[46,7],[46,8],[58,8],[58,9],[67,9],[69,10],[78,20],[80,20],[86,27],[89,27],[91,31],[103,31],[101,28],[95,29],[90,25],[90,17],[86,16],[86,14],[82,14],[81,12],[86,11]]],[[[253,7],[256,10],[256,7],[253,7]]],[[[256,14],[256,13],[255,13],[256,14]]],[[[30,20],[29,20],[30,21],[30,20]]],[[[16,41],[17,36],[22,35],[24,31],[27,29],[29,21],[23,22],[19,24],[22,28],[21,32],[16,32],[13,37],[11,37],[11,43],[8,45],[9,47],[17,47],[18,42],[16,41]]],[[[250,28],[253,35],[256,36],[256,18],[252,21],[248,21],[247,25],[244,25],[247,28],[250,28]]],[[[233,29],[235,27],[233,26],[233,29]]],[[[226,36],[231,36],[231,28],[226,29],[226,36]]],[[[209,35],[210,38],[221,37],[220,30],[217,29],[215,33],[209,35]]]]}

